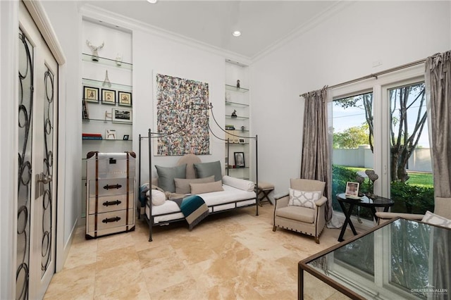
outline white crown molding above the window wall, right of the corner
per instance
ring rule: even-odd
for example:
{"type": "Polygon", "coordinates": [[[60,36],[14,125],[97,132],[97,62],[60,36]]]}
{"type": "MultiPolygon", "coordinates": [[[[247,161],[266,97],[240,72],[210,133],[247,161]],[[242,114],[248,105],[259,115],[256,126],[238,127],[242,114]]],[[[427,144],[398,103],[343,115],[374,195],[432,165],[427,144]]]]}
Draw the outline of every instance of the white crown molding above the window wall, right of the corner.
{"type": "Polygon", "coordinates": [[[320,13],[313,15],[308,20],[305,20],[305,22],[302,25],[299,25],[297,28],[295,28],[294,30],[289,32],[288,35],[285,35],[285,37],[278,39],[276,42],[271,44],[271,46],[266,47],[266,49],[260,51],[256,55],[252,56],[252,58],[251,58],[252,63],[257,62],[261,58],[264,58],[268,54],[271,54],[273,51],[280,49],[280,47],[284,46],[285,44],[288,44],[293,39],[304,35],[305,33],[314,29],[314,27],[323,23],[325,20],[330,18],[332,15],[335,15],[336,13],[342,11],[343,9],[347,8],[348,6],[350,6],[352,4],[354,4],[353,1],[339,0],[335,4],[333,4],[333,6],[329,6],[328,8],[321,11],[320,13]]]}

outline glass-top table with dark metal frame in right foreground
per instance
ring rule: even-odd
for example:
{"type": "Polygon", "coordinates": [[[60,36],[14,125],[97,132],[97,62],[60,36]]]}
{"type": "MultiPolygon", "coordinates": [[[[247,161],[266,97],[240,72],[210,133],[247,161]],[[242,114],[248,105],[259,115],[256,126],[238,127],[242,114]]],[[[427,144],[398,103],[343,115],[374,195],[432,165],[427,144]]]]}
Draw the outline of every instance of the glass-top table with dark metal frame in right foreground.
{"type": "Polygon", "coordinates": [[[451,230],[397,218],[299,261],[351,299],[450,299],[451,230]]]}

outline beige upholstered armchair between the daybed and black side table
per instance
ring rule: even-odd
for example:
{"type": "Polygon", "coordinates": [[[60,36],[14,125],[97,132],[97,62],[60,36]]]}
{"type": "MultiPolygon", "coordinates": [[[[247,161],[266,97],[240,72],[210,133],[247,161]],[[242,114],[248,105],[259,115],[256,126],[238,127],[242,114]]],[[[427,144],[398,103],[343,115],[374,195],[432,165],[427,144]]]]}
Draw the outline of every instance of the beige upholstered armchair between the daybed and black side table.
{"type": "MultiPolygon", "coordinates": [[[[304,192],[324,192],[326,182],[318,180],[291,179],[290,187],[304,192]]],[[[281,227],[306,235],[315,237],[316,244],[319,244],[319,235],[323,232],[326,225],[326,202],[325,196],[315,202],[314,208],[302,206],[289,206],[290,196],[283,196],[275,199],[274,205],[274,226],[273,231],[277,227],[281,227]]]]}

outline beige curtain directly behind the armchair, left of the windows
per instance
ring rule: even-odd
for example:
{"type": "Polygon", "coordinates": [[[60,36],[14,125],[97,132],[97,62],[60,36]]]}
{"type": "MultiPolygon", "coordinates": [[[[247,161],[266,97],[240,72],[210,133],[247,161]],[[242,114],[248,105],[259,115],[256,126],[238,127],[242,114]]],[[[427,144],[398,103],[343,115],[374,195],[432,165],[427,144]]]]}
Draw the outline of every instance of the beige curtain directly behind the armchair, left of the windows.
{"type": "Polygon", "coordinates": [[[302,94],[304,131],[302,134],[301,178],[326,182],[326,221],[332,218],[330,150],[327,126],[327,87],[302,94]]]}

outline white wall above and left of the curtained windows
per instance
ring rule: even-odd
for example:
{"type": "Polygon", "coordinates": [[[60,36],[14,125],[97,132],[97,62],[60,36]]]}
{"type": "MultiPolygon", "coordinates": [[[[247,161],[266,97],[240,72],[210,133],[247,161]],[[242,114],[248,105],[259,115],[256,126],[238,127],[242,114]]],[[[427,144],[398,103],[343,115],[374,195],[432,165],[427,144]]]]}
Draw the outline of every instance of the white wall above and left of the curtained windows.
{"type": "Polygon", "coordinates": [[[450,49],[450,2],[346,3],[316,27],[251,65],[252,128],[260,179],[288,191],[299,177],[304,99],[324,85],[417,61],[450,49]],[[373,68],[374,61],[382,65],[373,68]]]}

